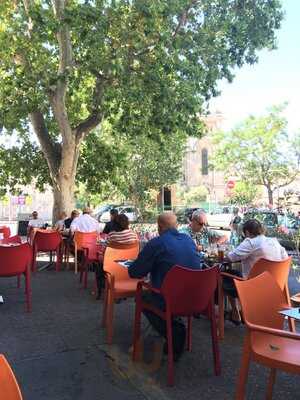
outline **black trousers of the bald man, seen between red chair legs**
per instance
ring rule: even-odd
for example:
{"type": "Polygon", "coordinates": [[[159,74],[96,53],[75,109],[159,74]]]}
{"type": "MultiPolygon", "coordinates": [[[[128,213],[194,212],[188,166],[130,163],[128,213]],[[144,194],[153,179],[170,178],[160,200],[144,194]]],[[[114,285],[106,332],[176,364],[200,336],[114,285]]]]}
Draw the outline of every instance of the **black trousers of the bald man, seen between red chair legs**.
{"type": "MultiPolygon", "coordinates": [[[[151,292],[143,293],[143,301],[152,306],[165,311],[164,300],[158,295],[151,292]]],[[[166,321],[154,314],[152,311],[143,310],[143,314],[148,319],[153,328],[165,339],[167,339],[167,324],[166,321]]],[[[173,335],[173,351],[175,354],[180,354],[184,350],[186,329],[185,325],[178,318],[172,319],[172,335],[173,335]]]]}

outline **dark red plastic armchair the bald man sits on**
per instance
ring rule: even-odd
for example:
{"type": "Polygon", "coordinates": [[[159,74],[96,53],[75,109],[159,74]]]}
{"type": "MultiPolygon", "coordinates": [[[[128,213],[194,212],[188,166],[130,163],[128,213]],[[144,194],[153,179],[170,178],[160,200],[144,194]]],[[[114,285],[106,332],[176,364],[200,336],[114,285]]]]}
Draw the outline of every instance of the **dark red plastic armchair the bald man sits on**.
{"type": "Polygon", "coordinates": [[[160,290],[145,282],[139,282],[136,293],[136,311],[133,339],[133,360],[138,359],[138,345],[140,342],[141,314],[143,310],[150,310],[164,319],[167,324],[168,345],[168,384],[174,384],[172,317],[185,316],[188,322],[188,350],[192,349],[192,317],[194,314],[205,314],[211,321],[211,338],[214,356],[214,370],[216,375],[221,373],[217,325],[215,316],[214,294],[218,283],[219,269],[217,266],[205,270],[193,270],[174,266],[166,275],[160,290]],[[143,302],[143,289],[160,294],[165,300],[165,311],[143,302]]]}

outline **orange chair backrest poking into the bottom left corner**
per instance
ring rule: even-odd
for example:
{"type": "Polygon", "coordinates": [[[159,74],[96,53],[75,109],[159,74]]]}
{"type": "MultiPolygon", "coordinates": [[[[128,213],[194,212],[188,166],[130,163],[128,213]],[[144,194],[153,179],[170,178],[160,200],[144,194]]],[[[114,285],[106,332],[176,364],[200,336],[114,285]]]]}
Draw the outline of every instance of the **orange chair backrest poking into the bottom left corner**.
{"type": "Polygon", "coordinates": [[[0,399],[23,399],[16,377],[3,354],[0,354],[0,399]]]}

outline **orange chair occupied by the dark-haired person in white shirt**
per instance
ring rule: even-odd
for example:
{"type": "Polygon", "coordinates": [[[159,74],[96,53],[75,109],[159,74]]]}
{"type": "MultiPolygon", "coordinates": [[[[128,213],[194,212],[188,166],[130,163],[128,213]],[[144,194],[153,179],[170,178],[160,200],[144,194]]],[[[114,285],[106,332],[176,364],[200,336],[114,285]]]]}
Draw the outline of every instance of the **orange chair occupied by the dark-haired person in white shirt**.
{"type": "MultiPolygon", "coordinates": [[[[239,278],[237,276],[231,275],[226,272],[222,272],[220,274],[220,281],[218,285],[218,292],[219,292],[219,339],[224,339],[224,291],[223,291],[223,277],[227,276],[230,278],[234,278],[236,280],[244,281],[246,279],[254,278],[261,273],[268,271],[275,281],[277,282],[278,286],[282,290],[285,296],[285,302],[287,307],[291,305],[290,302],[290,294],[288,288],[288,277],[289,271],[291,266],[291,257],[288,257],[286,260],[283,261],[270,261],[264,258],[258,260],[253,267],[251,268],[248,278],[239,278]]],[[[295,322],[289,318],[289,326],[292,332],[295,332],[295,322]]]]}

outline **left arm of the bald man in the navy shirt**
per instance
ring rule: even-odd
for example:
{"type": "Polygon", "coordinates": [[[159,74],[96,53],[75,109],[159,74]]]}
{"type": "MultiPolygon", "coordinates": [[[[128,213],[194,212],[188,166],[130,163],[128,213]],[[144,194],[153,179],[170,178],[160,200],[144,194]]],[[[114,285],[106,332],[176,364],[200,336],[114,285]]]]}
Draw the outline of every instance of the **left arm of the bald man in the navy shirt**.
{"type": "Polygon", "coordinates": [[[156,251],[157,247],[154,245],[153,240],[148,242],[138,258],[128,268],[129,276],[135,279],[147,276],[153,268],[156,251]]]}

